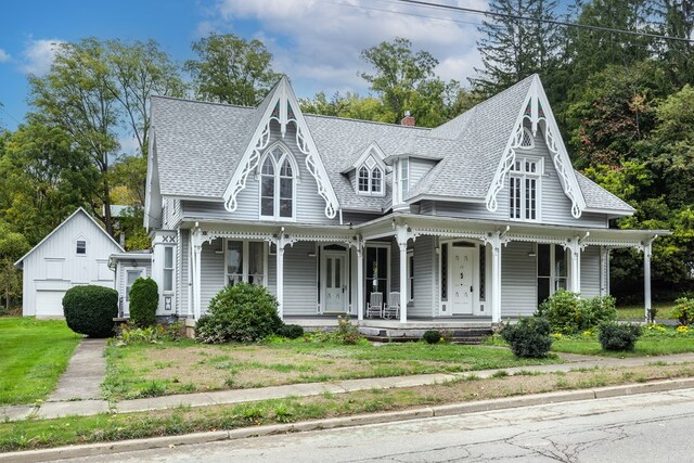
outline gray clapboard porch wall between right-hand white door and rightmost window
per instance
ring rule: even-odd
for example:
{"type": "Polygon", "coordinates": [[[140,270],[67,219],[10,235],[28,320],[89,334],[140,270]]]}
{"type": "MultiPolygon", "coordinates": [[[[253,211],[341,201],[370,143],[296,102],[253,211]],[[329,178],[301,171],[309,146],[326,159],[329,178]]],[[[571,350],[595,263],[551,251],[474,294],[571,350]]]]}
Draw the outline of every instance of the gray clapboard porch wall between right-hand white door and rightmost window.
{"type": "Polygon", "coordinates": [[[511,242],[501,249],[501,317],[531,316],[538,308],[537,258],[532,243],[511,242]]]}

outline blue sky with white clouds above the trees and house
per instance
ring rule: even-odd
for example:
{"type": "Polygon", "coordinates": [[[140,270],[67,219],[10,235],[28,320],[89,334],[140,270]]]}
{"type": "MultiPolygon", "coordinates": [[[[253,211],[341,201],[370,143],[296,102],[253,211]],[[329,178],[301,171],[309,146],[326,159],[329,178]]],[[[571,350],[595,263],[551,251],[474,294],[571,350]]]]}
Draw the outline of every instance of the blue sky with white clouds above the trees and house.
{"type": "MultiPolygon", "coordinates": [[[[487,9],[487,0],[435,1],[487,9]]],[[[181,64],[194,57],[191,42],[210,31],[257,38],[299,98],[368,94],[359,54],[395,37],[437,57],[445,80],[466,83],[480,66],[479,15],[397,0],[4,0],[1,12],[0,128],[10,130],[30,111],[27,76],[50,68],[54,43],[86,37],[152,38],[181,64]]]]}

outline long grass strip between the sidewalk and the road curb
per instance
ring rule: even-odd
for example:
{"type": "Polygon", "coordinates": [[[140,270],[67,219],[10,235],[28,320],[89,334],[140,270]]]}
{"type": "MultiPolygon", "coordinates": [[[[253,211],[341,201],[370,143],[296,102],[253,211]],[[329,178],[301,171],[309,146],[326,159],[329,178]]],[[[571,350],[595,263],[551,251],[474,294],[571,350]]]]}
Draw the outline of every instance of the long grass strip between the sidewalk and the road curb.
{"type": "Polygon", "coordinates": [[[293,423],[553,390],[643,383],[692,374],[692,364],[581,369],[548,374],[522,371],[489,380],[479,380],[470,374],[462,375],[459,381],[430,386],[325,393],[312,397],[200,408],[177,407],[143,413],[0,422],[0,452],[293,423]]]}

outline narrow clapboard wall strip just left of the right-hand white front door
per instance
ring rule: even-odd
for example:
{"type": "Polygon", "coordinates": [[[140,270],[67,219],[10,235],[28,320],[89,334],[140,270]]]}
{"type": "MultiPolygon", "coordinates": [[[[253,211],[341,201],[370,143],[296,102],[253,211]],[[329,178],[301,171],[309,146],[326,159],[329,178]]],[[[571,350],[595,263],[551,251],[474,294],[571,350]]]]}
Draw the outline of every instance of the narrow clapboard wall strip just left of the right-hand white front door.
{"type": "Polygon", "coordinates": [[[434,236],[420,236],[414,242],[414,305],[408,308],[413,317],[430,317],[436,270],[436,240],[434,236]]]}

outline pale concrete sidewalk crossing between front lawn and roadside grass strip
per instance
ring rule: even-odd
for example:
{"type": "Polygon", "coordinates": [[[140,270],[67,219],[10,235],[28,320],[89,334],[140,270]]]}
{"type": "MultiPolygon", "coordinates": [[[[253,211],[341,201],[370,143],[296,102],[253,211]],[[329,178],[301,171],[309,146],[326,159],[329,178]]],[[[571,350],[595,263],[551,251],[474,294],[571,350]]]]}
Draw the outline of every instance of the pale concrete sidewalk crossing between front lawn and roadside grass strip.
{"type": "Polygon", "coordinates": [[[15,406],[0,408],[0,419],[17,421],[26,417],[52,419],[65,415],[94,415],[98,413],[131,413],[150,410],[163,410],[181,406],[205,407],[216,404],[233,404],[267,399],[281,399],[285,397],[309,397],[323,393],[340,394],[358,390],[388,389],[399,387],[426,386],[455,381],[474,374],[481,378],[492,376],[499,371],[514,374],[520,371],[539,373],[568,372],[576,369],[591,368],[619,368],[641,366],[653,362],[683,363],[694,362],[694,352],[678,353],[659,357],[634,357],[627,359],[603,358],[590,356],[560,355],[568,363],[514,366],[509,369],[494,369],[470,371],[462,373],[422,374],[413,376],[377,377],[364,380],[346,380],[327,383],[291,384],[285,386],[271,386],[256,389],[231,389],[213,393],[195,393],[174,396],[162,396],[147,399],[123,400],[111,404],[105,400],[70,400],[49,401],[41,404],[15,406]]]}

